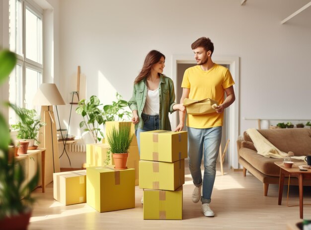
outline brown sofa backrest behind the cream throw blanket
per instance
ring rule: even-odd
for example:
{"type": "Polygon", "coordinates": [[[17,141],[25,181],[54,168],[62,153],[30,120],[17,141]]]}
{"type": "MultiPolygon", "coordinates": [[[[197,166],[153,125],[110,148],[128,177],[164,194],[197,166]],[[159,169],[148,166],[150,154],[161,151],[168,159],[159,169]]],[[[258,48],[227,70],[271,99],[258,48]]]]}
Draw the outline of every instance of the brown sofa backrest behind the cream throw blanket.
{"type": "Polygon", "coordinates": [[[275,147],[283,152],[294,152],[295,156],[311,154],[311,129],[276,128],[258,129],[275,147]]]}

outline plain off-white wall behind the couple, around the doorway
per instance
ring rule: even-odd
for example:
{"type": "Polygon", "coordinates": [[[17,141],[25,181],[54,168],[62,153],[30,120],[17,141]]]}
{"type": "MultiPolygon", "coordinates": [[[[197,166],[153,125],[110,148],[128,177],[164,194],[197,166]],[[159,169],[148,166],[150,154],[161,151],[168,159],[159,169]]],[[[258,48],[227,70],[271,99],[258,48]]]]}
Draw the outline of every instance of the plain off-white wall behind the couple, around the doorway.
{"type": "MultiPolygon", "coordinates": [[[[98,95],[108,104],[117,91],[129,100],[151,49],[166,55],[164,73],[170,76],[172,55],[191,55],[191,43],[208,36],[214,56],[240,57],[240,100],[235,102],[240,104],[240,132],[257,126],[241,117],[311,119],[306,97],[311,7],[280,23],[308,2],[253,0],[241,6],[240,0],[62,0],[62,94],[68,100],[80,65],[86,98],[98,95]]],[[[79,121],[73,118],[71,134],[78,133],[79,121]]]]}

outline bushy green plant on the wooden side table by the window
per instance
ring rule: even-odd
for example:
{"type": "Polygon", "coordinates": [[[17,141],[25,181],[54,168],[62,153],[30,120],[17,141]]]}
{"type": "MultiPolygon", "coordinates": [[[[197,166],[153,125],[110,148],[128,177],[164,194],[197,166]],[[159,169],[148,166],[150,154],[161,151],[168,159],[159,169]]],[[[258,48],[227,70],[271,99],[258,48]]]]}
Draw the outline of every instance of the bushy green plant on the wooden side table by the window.
{"type": "Polygon", "coordinates": [[[20,140],[29,141],[29,147],[34,146],[34,141],[39,144],[38,133],[42,126],[41,117],[37,115],[35,110],[28,110],[26,108],[15,108],[19,117],[24,117],[24,120],[19,118],[17,124],[13,124],[12,128],[17,129],[17,138],[20,140]]]}

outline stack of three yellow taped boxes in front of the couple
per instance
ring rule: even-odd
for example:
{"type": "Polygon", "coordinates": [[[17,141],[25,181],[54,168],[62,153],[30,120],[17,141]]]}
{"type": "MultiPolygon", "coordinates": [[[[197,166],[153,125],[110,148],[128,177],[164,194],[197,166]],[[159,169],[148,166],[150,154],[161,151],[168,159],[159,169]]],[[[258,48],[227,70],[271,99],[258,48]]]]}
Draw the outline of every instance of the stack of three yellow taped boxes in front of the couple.
{"type": "Polygon", "coordinates": [[[144,219],[182,220],[187,132],[141,133],[139,185],[144,189],[144,219]]]}

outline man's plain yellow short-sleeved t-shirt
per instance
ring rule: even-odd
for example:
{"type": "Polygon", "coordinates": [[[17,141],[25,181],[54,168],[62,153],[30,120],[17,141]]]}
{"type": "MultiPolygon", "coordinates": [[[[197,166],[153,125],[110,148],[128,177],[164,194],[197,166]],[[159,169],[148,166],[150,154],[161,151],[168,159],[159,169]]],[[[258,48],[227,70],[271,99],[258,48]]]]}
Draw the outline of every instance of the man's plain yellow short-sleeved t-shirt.
{"type": "MultiPolygon", "coordinates": [[[[202,100],[210,98],[222,104],[225,99],[225,89],[234,85],[230,71],[221,65],[214,64],[208,71],[200,65],[186,69],[181,83],[182,88],[190,89],[189,99],[202,100]]],[[[187,126],[192,128],[210,128],[223,126],[224,113],[187,115],[187,126]]]]}

